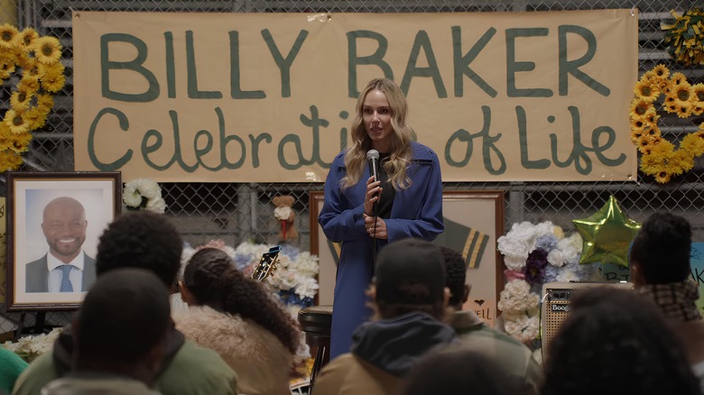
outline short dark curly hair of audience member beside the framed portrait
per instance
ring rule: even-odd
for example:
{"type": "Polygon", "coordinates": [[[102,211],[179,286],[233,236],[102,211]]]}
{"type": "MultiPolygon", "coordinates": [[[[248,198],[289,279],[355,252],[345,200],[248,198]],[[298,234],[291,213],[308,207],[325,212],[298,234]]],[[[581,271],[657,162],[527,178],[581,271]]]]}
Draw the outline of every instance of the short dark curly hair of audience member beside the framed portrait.
{"type": "Polygon", "coordinates": [[[100,236],[96,272],[141,268],[171,287],[181,269],[182,249],[181,234],[167,217],[149,211],[123,214],[100,236]]]}

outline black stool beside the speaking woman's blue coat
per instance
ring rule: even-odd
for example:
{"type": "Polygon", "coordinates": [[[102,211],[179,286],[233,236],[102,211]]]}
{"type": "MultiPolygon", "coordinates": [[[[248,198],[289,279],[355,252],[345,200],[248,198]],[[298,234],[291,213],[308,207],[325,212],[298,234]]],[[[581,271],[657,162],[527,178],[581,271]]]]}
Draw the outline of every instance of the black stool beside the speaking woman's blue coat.
{"type": "MultiPolygon", "coordinates": [[[[310,392],[313,390],[315,377],[330,360],[330,326],[332,325],[332,306],[311,306],[301,308],[298,312],[301,330],[306,333],[306,344],[318,347],[315,354],[313,370],[310,372],[310,392]]],[[[310,393],[309,392],[309,393],[310,393]]]]}

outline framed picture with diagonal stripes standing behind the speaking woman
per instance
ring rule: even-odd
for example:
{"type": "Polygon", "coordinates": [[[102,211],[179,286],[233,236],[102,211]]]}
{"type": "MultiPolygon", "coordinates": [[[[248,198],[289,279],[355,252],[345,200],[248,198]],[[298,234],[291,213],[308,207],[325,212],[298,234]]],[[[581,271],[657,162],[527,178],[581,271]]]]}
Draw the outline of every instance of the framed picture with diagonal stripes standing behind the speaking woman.
{"type": "MultiPolygon", "coordinates": [[[[341,245],[330,242],[318,224],[323,192],[310,192],[310,253],[320,259],[317,304],[331,305],[341,245]]],[[[504,191],[453,190],[442,193],[445,232],[433,243],[462,253],[471,286],[465,309],[494,326],[496,304],[504,289],[503,258],[496,239],[504,234],[504,191]]]]}

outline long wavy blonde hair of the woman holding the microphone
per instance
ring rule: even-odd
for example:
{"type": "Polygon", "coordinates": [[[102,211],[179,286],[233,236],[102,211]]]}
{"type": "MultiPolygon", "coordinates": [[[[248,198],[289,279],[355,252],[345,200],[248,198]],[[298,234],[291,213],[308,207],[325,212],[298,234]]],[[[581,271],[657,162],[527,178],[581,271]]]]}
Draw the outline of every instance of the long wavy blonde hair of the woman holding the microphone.
{"type": "Polygon", "coordinates": [[[362,93],[357,98],[355,119],[352,122],[352,145],[345,153],[345,167],[347,174],[340,181],[342,189],[352,187],[362,178],[362,171],[365,169],[366,152],[372,148],[372,140],[366,133],[364,122],[362,121],[362,109],[365,104],[366,95],[378,90],[386,96],[391,108],[391,125],[394,129],[391,140],[391,152],[388,161],[384,161],[384,171],[389,175],[389,183],[394,189],[399,190],[411,186],[411,179],[406,175],[406,169],[412,159],[411,142],[415,133],[406,124],[408,115],[408,103],[403,96],[401,88],[391,79],[375,78],[366,84],[362,93]]]}

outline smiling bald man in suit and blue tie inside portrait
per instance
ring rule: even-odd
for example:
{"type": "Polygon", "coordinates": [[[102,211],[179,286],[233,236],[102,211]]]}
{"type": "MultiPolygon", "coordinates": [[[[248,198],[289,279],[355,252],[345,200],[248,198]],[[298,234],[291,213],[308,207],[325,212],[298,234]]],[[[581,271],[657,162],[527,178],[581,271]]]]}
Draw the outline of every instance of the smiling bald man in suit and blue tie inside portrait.
{"type": "Polygon", "coordinates": [[[49,253],[29,262],[27,292],[86,291],[96,280],[96,260],[83,252],[86,210],[74,198],[55,198],[44,207],[42,232],[49,253]]]}

